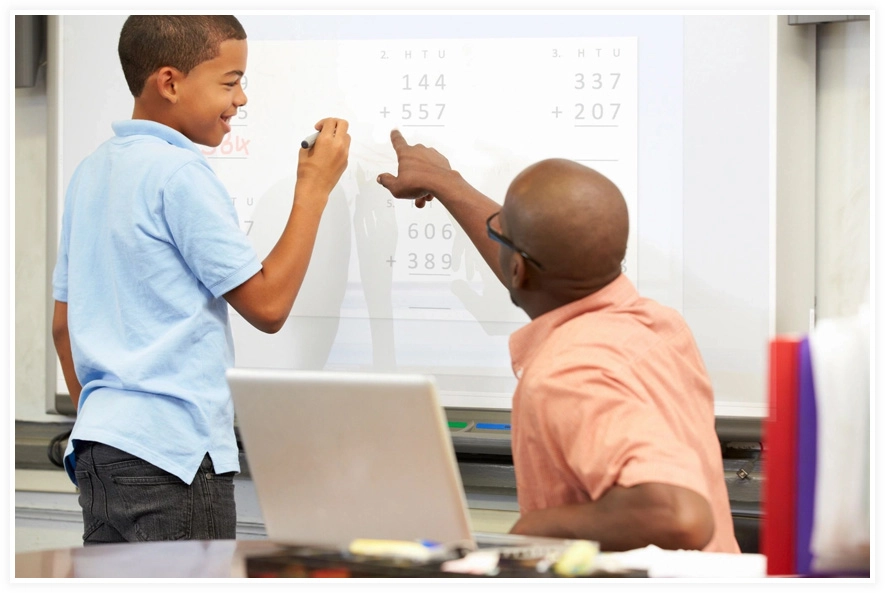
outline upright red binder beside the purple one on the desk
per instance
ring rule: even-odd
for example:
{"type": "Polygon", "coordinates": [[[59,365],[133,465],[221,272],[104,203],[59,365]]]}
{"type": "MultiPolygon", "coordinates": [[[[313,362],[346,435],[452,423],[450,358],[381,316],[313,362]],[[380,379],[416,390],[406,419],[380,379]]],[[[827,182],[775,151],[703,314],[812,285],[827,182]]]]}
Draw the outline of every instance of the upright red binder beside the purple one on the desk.
{"type": "Polygon", "coordinates": [[[796,477],[800,338],[769,344],[768,419],[762,434],[765,481],[759,548],[769,575],[796,574],[796,477]]]}

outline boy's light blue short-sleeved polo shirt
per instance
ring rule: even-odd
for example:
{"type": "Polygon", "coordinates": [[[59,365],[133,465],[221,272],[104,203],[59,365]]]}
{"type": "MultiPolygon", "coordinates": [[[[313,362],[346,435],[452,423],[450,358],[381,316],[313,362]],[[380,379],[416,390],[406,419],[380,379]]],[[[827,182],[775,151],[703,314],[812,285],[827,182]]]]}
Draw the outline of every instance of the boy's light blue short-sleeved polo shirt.
{"type": "Polygon", "coordinates": [[[222,295],[261,263],[193,142],[147,120],[113,129],[68,186],[53,274],[83,386],[65,469],[76,483],[73,441],[90,440],[188,484],[207,452],[239,471],[222,295]]]}

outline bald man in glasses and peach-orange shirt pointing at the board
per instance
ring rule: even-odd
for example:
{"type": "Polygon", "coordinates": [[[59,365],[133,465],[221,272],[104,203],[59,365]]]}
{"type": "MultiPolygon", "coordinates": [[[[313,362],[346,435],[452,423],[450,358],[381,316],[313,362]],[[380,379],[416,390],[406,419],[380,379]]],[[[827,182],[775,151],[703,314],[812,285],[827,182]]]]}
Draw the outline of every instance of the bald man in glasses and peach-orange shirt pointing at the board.
{"type": "Polygon", "coordinates": [[[519,380],[513,533],[740,552],[713,393],[685,320],[621,273],[628,215],[618,188],[562,159],[531,165],[503,207],[439,152],[394,130],[398,172],[378,182],[437,199],[531,322],[510,338],[519,380]]]}

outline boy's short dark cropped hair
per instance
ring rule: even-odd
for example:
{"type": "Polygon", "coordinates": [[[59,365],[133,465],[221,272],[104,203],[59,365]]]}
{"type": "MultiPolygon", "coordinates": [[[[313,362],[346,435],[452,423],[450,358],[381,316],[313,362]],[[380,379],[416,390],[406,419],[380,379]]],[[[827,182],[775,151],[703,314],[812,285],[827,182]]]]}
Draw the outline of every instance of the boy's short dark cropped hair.
{"type": "Polygon", "coordinates": [[[240,21],[227,15],[132,15],[123,23],[117,52],[133,97],[164,66],[187,74],[218,55],[229,39],[245,39],[240,21]]]}

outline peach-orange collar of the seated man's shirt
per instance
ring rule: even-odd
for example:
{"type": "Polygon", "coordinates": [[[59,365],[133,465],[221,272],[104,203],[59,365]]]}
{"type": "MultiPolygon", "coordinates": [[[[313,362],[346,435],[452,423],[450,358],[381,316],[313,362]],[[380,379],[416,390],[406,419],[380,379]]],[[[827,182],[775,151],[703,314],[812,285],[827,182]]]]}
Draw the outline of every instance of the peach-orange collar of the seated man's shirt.
{"type": "Polygon", "coordinates": [[[597,313],[620,307],[638,297],[636,287],[627,276],[621,274],[593,294],[536,317],[510,335],[510,360],[513,373],[517,378],[522,378],[523,369],[529,365],[550,334],[560,325],[585,313],[597,313]]]}

